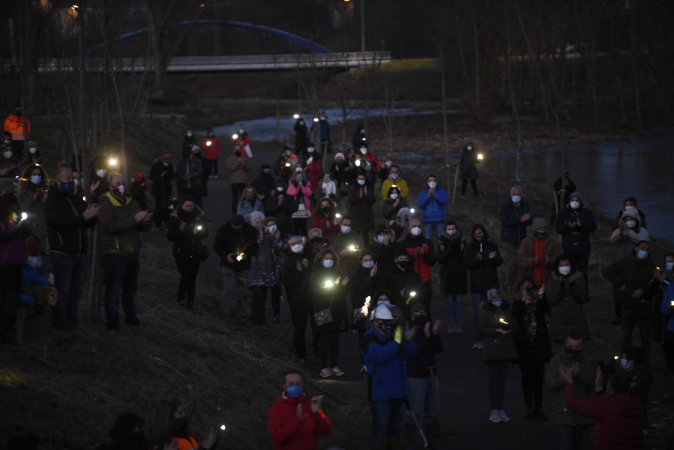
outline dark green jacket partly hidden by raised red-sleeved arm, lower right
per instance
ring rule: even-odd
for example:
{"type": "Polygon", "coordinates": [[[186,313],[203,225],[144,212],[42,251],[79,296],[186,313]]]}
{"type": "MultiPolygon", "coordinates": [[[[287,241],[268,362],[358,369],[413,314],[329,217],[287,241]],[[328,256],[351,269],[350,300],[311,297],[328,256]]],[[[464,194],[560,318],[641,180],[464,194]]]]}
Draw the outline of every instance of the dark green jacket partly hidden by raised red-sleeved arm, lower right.
{"type": "Polygon", "coordinates": [[[564,397],[564,388],[566,382],[559,376],[559,366],[572,367],[578,362],[578,374],[574,376],[574,389],[576,395],[584,399],[594,399],[594,381],[596,379],[597,364],[586,356],[582,355],[575,359],[566,354],[565,349],[561,349],[559,354],[555,355],[548,363],[545,373],[545,387],[552,393],[553,412],[555,417],[553,423],[555,425],[592,425],[594,419],[588,416],[577,414],[566,407],[566,399],[564,397]]]}

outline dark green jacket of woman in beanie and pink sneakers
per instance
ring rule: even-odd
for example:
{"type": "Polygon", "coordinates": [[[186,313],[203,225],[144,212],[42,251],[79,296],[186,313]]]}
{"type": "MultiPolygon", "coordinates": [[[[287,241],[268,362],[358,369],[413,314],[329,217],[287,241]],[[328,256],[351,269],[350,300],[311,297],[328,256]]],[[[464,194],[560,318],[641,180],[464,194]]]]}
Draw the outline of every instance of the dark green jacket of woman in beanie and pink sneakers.
{"type": "Polygon", "coordinates": [[[512,318],[512,308],[503,300],[501,308],[496,308],[491,302],[482,302],[480,305],[480,319],[477,324],[478,333],[483,337],[482,345],[485,351],[485,362],[519,359],[515,348],[513,335],[518,330],[517,322],[512,318]],[[499,319],[503,319],[502,323],[499,319]],[[508,334],[497,333],[497,329],[512,330],[508,334]]]}

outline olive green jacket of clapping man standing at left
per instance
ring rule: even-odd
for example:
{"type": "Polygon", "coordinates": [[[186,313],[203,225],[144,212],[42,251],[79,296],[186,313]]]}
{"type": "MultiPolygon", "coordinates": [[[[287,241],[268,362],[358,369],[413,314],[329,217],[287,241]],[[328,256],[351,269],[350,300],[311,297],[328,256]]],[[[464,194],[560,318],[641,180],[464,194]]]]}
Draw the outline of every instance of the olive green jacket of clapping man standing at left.
{"type": "Polygon", "coordinates": [[[150,221],[136,223],[140,205],[130,196],[119,200],[112,192],[100,197],[100,242],[104,255],[133,256],[140,252],[140,231],[150,229],[150,221]],[[122,204],[123,202],[123,204],[122,204]]]}

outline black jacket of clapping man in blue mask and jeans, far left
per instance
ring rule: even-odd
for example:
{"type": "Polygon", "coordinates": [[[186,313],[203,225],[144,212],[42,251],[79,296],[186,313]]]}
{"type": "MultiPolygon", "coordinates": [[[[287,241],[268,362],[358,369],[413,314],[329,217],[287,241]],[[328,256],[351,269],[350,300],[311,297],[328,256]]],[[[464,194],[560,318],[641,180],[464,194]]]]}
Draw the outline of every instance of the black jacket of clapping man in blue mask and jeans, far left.
{"type": "Polygon", "coordinates": [[[51,252],[69,255],[85,254],[86,229],[94,227],[97,217],[84,220],[86,203],[81,196],[52,186],[44,200],[44,217],[47,219],[47,238],[51,252]]]}

